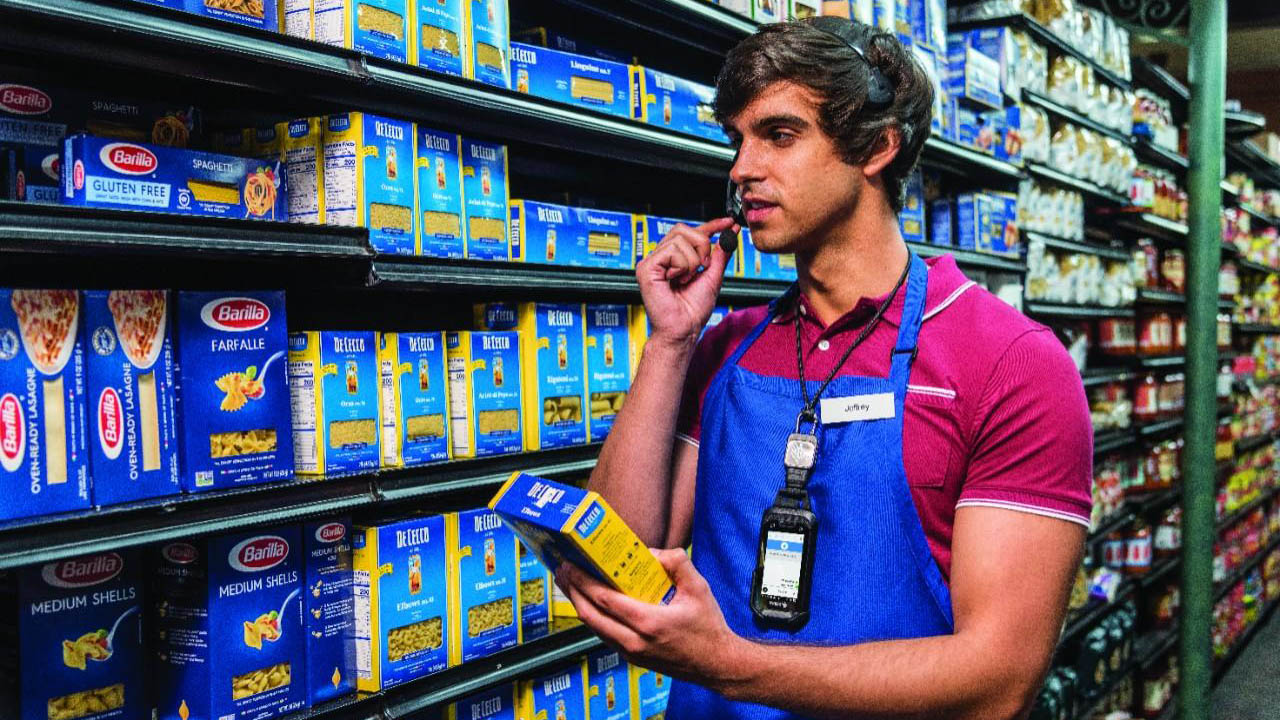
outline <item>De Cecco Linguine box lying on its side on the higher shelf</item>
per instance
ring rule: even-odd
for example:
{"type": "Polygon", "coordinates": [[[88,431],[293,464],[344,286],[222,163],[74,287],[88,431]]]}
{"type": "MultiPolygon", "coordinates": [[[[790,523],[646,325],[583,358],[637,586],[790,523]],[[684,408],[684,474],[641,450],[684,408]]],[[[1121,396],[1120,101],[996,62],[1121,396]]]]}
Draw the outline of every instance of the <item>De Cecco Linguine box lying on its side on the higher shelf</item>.
{"type": "Polygon", "coordinates": [[[512,42],[511,74],[518,92],[631,117],[628,68],[622,63],[512,42]]]}

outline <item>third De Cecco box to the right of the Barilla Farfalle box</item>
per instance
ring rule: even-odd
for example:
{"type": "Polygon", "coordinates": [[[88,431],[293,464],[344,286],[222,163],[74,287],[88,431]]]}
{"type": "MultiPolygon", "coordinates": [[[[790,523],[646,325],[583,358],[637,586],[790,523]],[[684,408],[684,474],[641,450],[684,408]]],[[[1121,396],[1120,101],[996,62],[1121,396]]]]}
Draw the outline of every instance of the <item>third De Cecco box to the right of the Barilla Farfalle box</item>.
{"type": "Polygon", "coordinates": [[[520,452],[521,348],[515,332],[445,334],[453,457],[520,452]]]}

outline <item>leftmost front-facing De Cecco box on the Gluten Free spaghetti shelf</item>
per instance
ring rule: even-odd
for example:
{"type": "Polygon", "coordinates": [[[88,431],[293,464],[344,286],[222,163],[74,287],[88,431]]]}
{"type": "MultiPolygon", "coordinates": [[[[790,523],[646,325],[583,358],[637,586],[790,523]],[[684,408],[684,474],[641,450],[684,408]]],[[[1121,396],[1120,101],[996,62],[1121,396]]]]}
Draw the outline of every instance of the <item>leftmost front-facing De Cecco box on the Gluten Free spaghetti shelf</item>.
{"type": "Polygon", "coordinates": [[[413,255],[413,123],[367,113],[329,115],[324,135],[325,222],[369,228],[369,245],[413,255]]]}

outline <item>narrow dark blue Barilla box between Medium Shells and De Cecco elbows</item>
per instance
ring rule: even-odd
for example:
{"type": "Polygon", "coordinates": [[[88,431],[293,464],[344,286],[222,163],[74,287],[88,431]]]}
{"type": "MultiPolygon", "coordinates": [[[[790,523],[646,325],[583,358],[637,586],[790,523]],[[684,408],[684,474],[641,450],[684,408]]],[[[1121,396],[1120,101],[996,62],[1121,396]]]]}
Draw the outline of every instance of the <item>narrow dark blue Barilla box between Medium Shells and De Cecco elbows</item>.
{"type": "Polygon", "coordinates": [[[302,525],[302,628],[307,634],[307,703],[312,706],[356,692],[351,541],[347,518],[302,525]]]}

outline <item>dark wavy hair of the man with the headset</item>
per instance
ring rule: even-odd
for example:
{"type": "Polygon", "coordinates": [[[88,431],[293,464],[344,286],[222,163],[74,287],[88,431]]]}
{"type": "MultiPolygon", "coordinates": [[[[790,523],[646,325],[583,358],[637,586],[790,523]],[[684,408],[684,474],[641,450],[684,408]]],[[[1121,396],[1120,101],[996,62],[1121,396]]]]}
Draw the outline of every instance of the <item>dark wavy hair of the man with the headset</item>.
{"type": "Polygon", "coordinates": [[[735,118],[769,85],[790,81],[822,97],[818,124],[835,138],[844,160],[865,163],[883,147],[886,131],[899,133],[899,150],[881,178],[893,211],[902,209],[902,187],[929,137],[933,83],[910,50],[887,32],[852,23],[851,38],[893,87],[893,102],[864,108],[868,68],[838,37],[813,19],[767,24],[730,50],[716,78],[716,119],[735,118]]]}

